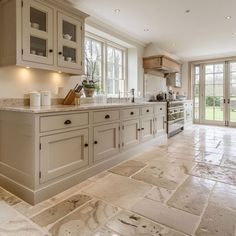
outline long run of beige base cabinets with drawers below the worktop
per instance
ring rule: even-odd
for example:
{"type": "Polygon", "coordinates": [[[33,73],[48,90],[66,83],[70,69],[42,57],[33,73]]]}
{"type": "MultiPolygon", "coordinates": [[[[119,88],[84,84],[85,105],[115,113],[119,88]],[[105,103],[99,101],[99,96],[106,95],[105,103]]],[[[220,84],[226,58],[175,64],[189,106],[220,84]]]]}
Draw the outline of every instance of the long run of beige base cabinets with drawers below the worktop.
{"type": "Polygon", "coordinates": [[[1,186],[31,204],[52,197],[166,140],[165,106],[0,109],[1,186]]]}

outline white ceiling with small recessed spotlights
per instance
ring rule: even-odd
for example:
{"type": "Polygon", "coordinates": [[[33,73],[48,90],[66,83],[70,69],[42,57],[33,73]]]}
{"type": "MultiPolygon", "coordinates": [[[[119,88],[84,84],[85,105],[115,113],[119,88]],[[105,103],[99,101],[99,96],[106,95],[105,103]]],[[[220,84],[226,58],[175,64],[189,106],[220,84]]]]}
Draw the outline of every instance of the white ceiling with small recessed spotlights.
{"type": "Polygon", "coordinates": [[[236,55],[235,0],[69,1],[94,19],[182,59],[236,55]]]}

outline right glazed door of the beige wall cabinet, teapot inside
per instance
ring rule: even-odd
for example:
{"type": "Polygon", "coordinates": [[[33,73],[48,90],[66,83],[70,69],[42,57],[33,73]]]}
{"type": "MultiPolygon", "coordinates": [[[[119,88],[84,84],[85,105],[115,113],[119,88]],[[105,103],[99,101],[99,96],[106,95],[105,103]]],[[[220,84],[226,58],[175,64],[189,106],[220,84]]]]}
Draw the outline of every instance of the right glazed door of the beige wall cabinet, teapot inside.
{"type": "Polygon", "coordinates": [[[82,70],[82,23],[58,13],[58,65],[82,70]]]}

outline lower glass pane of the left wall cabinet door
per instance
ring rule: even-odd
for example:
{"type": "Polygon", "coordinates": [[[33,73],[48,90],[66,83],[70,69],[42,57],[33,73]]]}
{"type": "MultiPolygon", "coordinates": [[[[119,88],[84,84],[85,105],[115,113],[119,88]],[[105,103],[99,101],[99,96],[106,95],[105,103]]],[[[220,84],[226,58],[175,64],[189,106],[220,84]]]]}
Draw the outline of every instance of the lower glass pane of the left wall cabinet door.
{"type": "Polygon", "coordinates": [[[30,54],[46,57],[47,56],[47,40],[31,36],[30,37],[30,54]]]}

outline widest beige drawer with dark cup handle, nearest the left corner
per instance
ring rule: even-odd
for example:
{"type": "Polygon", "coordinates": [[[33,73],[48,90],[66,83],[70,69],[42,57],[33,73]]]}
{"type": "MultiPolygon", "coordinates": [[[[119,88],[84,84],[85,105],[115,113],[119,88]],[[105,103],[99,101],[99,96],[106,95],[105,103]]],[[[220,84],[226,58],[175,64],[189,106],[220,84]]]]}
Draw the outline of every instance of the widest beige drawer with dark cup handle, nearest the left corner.
{"type": "Polygon", "coordinates": [[[40,131],[47,132],[57,129],[67,129],[88,125],[88,123],[88,113],[45,116],[40,118],[40,131]]]}

